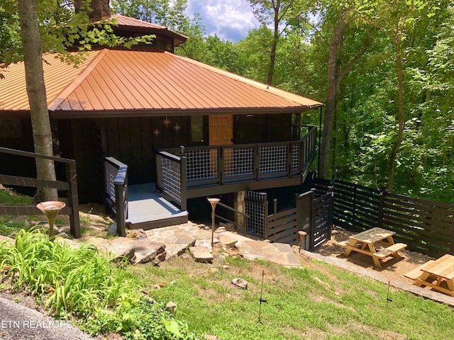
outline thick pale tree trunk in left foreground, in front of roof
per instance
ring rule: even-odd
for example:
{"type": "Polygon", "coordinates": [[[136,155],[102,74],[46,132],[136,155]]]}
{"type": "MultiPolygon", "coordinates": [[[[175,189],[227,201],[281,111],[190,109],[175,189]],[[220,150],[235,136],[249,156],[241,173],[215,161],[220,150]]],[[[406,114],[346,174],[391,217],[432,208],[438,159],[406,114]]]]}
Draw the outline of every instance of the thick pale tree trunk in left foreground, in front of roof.
{"type": "MultiPolygon", "coordinates": [[[[45,94],[41,38],[35,0],[18,0],[18,11],[35,152],[53,156],[52,132],[45,94]]],[[[38,179],[55,181],[53,161],[36,159],[36,173],[38,179]]],[[[37,198],[39,201],[57,200],[57,189],[38,188],[37,198]]]]}

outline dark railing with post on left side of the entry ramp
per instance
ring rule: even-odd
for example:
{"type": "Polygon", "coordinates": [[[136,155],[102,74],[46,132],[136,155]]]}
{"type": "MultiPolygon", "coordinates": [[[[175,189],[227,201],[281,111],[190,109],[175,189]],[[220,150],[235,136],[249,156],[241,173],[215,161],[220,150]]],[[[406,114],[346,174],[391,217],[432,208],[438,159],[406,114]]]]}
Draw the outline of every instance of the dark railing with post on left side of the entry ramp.
{"type": "Polygon", "coordinates": [[[128,218],[128,166],[114,157],[104,157],[104,188],[106,201],[116,213],[116,230],[126,237],[128,218]]]}

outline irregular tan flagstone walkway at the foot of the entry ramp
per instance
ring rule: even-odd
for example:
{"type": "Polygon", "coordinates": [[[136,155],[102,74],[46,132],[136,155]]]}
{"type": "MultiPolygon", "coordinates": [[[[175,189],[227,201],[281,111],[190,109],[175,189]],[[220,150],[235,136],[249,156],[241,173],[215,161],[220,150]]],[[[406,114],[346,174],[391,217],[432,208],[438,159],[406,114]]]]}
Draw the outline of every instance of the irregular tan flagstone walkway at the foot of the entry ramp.
{"type": "Polygon", "coordinates": [[[193,222],[147,231],[128,230],[128,237],[83,237],[77,240],[57,237],[57,242],[67,242],[74,247],[79,246],[81,242],[87,242],[106,252],[112,261],[126,257],[133,263],[149,261],[159,263],[189,250],[195,261],[211,262],[213,261],[211,237],[215,248],[235,249],[236,254],[245,259],[262,259],[286,267],[301,266],[299,256],[294,254],[289,244],[257,241],[229,232],[225,227],[219,227],[212,233],[206,225],[193,222]]]}

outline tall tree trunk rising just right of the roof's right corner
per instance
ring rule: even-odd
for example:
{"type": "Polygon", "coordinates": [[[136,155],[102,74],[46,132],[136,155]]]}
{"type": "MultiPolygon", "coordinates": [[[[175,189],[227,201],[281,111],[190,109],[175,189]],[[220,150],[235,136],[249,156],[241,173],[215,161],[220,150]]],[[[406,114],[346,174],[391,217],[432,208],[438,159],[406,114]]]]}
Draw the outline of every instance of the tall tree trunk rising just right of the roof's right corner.
{"type": "Polygon", "coordinates": [[[343,13],[339,18],[338,27],[331,34],[331,43],[328,55],[328,93],[326,94],[325,117],[323,119],[323,135],[320,147],[319,177],[328,177],[328,162],[331,145],[331,132],[333,131],[333,116],[336,106],[336,94],[338,91],[338,50],[343,42],[343,31],[346,23],[343,13]]]}

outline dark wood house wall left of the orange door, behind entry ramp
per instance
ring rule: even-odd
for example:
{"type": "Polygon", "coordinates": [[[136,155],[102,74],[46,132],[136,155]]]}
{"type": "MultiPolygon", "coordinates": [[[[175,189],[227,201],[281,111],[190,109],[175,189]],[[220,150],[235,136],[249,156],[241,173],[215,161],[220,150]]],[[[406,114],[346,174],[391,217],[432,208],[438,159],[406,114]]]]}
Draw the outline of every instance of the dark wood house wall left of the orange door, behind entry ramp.
{"type": "Polygon", "coordinates": [[[60,120],[60,151],[76,160],[81,201],[101,200],[102,154],[128,165],[128,183],[156,181],[155,149],[189,145],[188,123],[189,117],[60,120]]]}

